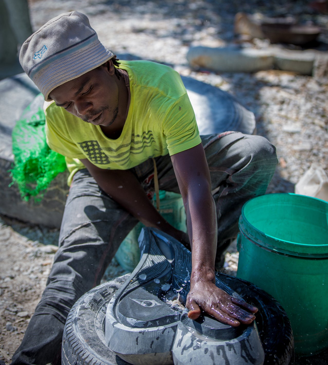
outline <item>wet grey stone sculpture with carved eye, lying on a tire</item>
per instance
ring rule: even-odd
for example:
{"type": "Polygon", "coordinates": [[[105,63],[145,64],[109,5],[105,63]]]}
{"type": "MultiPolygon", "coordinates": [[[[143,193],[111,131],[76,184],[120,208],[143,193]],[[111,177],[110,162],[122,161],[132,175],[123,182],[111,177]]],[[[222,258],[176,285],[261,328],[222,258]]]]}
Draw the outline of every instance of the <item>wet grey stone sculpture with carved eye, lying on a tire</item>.
{"type": "MultiPolygon", "coordinates": [[[[256,324],[231,327],[209,316],[191,320],[182,302],[190,290],[191,253],[156,229],[139,237],[141,260],[106,312],[108,347],[130,364],[263,364],[256,324]]],[[[240,297],[217,280],[216,285],[240,297]]]]}

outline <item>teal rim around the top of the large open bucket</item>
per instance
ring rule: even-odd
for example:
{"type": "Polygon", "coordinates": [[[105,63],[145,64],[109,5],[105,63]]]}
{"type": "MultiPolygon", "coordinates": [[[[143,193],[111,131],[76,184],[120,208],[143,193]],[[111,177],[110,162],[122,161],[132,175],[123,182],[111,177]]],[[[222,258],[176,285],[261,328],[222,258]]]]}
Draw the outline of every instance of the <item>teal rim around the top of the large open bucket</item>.
{"type": "Polygon", "coordinates": [[[328,257],[328,243],[327,244],[320,244],[320,245],[309,245],[306,243],[297,243],[293,241],[286,241],[283,239],[279,239],[277,237],[273,237],[271,235],[265,234],[263,231],[260,231],[258,228],[254,227],[246,218],[245,216],[245,209],[247,209],[247,205],[251,204],[254,200],[263,200],[267,199],[268,196],[270,196],[269,199],[271,199],[272,196],[277,195],[289,195],[289,196],[297,196],[301,197],[301,199],[304,200],[313,200],[317,201],[317,204],[326,206],[326,209],[322,209],[322,211],[328,211],[328,202],[317,199],[314,197],[306,196],[306,195],[300,195],[300,194],[294,194],[294,193],[272,193],[272,194],[266,194],[254,197],[250,200],[248,200],[241,210],[241,215],[239,218],[239,229],[240,232],[245,235],[246,237],[249,237],[254,241],[256,244],[262,247],[266,247],[270,249],[271,251],[276,251],[277,253],[283,253],[290,256],[298,256],[298,257],[314,257],[314,258],[324,258],[328,257]],[[252,232],[250,232],[247,227],[245,226],[245,222],[251,227],[252,232]],[[266,242],[263,242],[263,239],[266,240],[266,242]],[[313,252],[316,251],[316,252],[313,252]]]}

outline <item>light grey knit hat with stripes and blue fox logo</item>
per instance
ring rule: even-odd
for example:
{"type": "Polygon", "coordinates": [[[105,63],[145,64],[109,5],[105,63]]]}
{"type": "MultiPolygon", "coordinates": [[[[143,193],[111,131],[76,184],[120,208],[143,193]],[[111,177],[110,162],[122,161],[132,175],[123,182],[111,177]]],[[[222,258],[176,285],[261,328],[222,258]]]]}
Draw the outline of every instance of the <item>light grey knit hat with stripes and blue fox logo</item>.
{"type": "Polygon", "coordinates": [[[114,55],[99,41],[89,19],[77,11],[58,15],[22,45],[19,62],[42,92],[49,93],[104,64],[114,55]]]}

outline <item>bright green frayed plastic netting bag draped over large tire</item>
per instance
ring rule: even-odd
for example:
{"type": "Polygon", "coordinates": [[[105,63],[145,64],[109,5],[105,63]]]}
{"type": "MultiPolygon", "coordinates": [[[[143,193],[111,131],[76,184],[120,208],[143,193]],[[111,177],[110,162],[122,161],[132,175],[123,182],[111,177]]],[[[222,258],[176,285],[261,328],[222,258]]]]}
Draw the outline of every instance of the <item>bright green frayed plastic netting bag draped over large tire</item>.
{"type": "Polygon", "coordinates": [[[43,102],[43,95],[37,95],[12,131],[12,184],[18,185],[25,201],[32,196],[40,201],[51,181],[66,169],[65,157],[50,150],[46,143],[43,102]]]}

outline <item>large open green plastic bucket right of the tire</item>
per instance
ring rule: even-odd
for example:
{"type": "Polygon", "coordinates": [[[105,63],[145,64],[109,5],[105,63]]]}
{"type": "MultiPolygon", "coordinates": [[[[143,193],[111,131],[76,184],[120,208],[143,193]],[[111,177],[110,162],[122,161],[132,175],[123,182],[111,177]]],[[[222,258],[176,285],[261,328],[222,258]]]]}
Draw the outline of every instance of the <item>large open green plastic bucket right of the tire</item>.
{"type": "Polygon", "coordinates": [[[328,346],[328,203],[268,194],[244,204],[237,277],[278,300],[289,316],[295,352],[328,346]]]}

